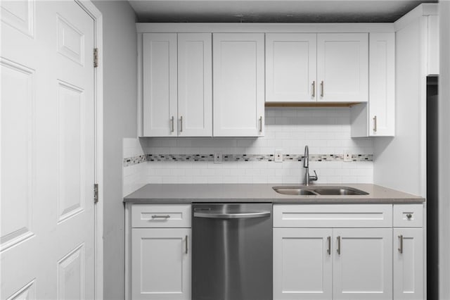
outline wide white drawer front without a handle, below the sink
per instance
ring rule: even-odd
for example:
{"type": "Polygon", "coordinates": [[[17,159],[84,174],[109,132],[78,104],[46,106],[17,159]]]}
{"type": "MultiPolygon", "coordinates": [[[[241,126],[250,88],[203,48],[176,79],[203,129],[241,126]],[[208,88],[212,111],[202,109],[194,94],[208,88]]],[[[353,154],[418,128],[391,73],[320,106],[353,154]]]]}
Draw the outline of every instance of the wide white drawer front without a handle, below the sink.
{"type": "Polygon", "coordinates": [[[392,205],[275,205],[274,227],[392,227],[392,205]]]}

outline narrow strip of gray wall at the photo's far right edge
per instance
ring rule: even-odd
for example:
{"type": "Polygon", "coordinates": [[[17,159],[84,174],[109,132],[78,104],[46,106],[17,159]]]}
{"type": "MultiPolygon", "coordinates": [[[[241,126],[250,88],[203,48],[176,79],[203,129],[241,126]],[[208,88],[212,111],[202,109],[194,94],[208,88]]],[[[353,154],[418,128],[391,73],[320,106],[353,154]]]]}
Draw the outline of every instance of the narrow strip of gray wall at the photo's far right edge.
{"type": "Polygon", "coordinates": [[[450,2],[439,3],[439,299],[450,299],[450,2]]]}

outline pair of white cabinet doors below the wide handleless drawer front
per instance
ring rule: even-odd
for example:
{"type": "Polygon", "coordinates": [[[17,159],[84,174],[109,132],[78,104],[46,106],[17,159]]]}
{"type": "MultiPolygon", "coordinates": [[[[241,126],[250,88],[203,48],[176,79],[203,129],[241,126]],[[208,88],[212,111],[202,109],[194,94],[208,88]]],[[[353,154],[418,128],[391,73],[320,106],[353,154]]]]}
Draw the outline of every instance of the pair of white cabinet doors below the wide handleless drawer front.
{"type": "Polygon", "coordinates": [[[392,229],[274,228],[274,299],[392,299],[392,229]]]}

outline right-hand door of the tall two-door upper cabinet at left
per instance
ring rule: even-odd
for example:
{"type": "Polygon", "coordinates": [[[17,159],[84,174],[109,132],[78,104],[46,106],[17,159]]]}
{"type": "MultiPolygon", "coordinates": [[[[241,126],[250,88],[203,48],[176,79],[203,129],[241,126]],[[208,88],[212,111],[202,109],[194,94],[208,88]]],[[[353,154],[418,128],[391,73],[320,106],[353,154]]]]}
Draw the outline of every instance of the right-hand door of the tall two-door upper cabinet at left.
{"type": "Polygon", "coordinates": [[[178,34],[179,136],[212,136],[210,33],[178,34]]]}

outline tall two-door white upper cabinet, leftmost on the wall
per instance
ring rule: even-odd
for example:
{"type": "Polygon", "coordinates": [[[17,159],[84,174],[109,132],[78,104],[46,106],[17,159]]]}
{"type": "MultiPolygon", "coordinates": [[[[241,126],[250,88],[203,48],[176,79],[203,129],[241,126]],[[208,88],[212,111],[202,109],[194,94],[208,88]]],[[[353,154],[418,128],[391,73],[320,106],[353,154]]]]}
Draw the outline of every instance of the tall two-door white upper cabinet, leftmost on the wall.
{"type": "Polygon", "coordinates": [[[143,136],[212,135],[210,33],[143,34],[143,136]]]}

